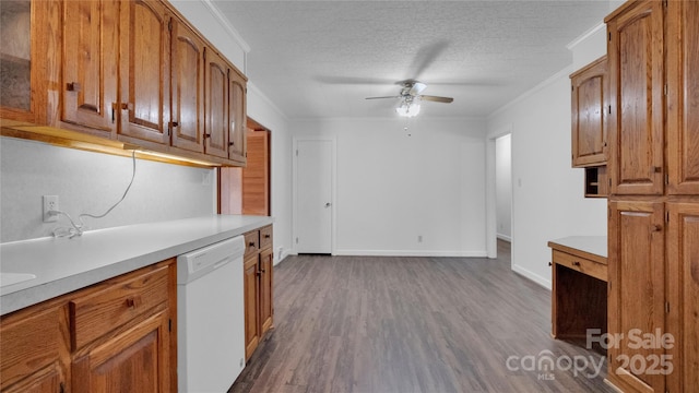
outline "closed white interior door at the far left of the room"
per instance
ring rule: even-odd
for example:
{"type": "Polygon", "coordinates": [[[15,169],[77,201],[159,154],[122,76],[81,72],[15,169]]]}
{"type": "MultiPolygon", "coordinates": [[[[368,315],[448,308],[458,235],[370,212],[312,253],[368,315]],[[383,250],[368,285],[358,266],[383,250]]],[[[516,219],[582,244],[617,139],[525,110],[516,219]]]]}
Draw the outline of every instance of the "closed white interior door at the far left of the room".
{"type": "Polygon", "coordinates": [[[296,144],[296,251],[332,252],[332,141],[296,144]]]}

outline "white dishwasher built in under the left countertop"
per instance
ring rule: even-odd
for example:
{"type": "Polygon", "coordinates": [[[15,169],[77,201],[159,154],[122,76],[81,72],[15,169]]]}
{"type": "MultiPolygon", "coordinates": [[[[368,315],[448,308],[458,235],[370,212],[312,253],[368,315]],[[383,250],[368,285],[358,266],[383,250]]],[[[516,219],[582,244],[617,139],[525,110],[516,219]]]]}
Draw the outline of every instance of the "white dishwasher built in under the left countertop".
{"type": "Polygon", "coordinates": [[[177,258],[179,392],[225,393],[245,368],[245,238],[177,258]]]}

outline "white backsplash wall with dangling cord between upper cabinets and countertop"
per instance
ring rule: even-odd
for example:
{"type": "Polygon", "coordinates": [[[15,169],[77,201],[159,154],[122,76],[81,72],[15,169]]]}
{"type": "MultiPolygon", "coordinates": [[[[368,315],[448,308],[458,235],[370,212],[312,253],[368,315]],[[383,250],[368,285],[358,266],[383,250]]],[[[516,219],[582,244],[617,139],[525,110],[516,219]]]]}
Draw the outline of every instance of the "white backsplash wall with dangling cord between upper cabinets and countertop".
{"type": "MultiPolygon", "coordinates": [[[[0,241],[51,236],[58,223],[44,223],[42,195],[58,195],[59,207],[73,218],[103,214],[123,194],[132,160],[107,154],[55,147],[0,138],[0,241]]],[[[214,169],[137,159],[129,194],[102,219],[85,218],[90,229],[177,219],[214,213],[214,169]]]]}

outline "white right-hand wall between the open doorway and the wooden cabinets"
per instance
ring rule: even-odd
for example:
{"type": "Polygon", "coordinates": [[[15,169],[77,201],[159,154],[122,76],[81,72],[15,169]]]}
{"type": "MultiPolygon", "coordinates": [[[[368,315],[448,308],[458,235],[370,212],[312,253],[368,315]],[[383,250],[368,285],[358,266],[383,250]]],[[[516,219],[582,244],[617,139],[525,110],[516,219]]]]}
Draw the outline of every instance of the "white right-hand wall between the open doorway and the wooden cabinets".
{"type": "Polygon", "coordinates": [[[502,108],[488,132],[512,129],[512,269],[550,288],[547,241],[606,235],[606,200],[583,198],[570,167],[570,70],[502,108]]]}

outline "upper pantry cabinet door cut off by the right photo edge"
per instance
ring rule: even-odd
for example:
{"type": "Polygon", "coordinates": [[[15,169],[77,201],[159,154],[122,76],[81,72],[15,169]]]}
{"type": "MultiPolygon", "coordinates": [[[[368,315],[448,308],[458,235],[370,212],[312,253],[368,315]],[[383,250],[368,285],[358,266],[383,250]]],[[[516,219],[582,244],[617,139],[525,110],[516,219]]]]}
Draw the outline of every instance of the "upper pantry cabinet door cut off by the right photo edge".
{"type": "Polygon", "coordinates": [[[667,2],[667,170],[671,194],[699,194],[699,2],[667,2]]]}

